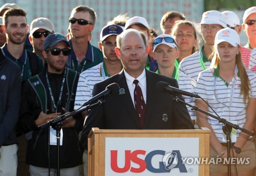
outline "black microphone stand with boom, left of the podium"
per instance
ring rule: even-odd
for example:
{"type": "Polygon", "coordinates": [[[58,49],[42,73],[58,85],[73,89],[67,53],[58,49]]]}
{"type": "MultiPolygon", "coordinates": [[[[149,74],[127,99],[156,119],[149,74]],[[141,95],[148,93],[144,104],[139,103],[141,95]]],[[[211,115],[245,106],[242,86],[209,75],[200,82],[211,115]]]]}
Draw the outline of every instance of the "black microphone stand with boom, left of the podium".
{"type": "Polygon", "coordinates": [[[58,116],[57,118],[55,119],[52,119],[50,121],[48,121],[47,123],[44,123],[44,124],[41,124],[38,128],[39,129],[45,129],[45,128],[50,128],[50,126],[52,126],[52,128],[54,130],[56,130],[56,138],[57,138],[57,176],[60,176],[60,167],[59,167],[59,146],[60,146],[60,130],[62,128],[62,125],[61,125],[61,121],[62,120],[65,120],[67,117],[70,117],[70,116],[73,116],[75,114],[78,114],[79,112],[81,111],[84,111],[84,110],[87,110],[87,109],[90,109],[96,105],[101,105],[103,103],[105,103],[106,100],[98,100],[97,103],[94,103],[92,105],[88,105],[88,106],[82,106],[80,107],[79,109],[73,111],[73,112],[70,112],[68,114],[63,114],[63,115],[60,115],[58,116]]]}

